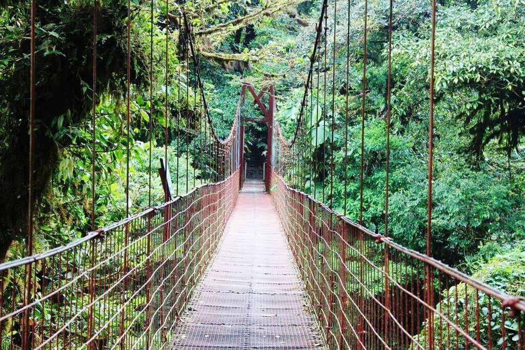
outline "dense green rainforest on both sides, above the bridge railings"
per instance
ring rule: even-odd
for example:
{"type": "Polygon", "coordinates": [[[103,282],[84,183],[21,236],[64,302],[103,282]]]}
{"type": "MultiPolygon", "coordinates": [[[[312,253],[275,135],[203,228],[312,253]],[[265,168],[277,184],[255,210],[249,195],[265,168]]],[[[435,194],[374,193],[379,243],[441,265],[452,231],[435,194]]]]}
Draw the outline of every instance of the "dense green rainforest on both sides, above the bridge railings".
{"type": "MultiPolygon", "coordinates": [[[[96,101],[93,2],[37,4],[34,239],[35,252],[43,252],[125,215],[127,2],[99,1],[96,101]],[[91,186],[93,107],[96,188],[91,186]]],[[[249,81],[259,88],[275,85],[277,118],[291,137],[321,2],[131,4],[129,205],[135,213],[149,206],[150,149],[155,204],[164,199],[156,167],[165,145],[176,159],[169,165],[178,174],[177,193],[214,178],[211,169],[195,161],[195,140],[180,132],[191,129],[203,110],[197,93],[181,94],[185,84],[194,82],[180,79],[187,59],[180,53],[180,11],[190,18],[206,101],[219,135],[229,132],[241,83],[249,81]],[[166,69],[171,72],[167,79],[166,69]],[[152,134],[144,131],[150,119],[152,134]]],[[[318,168],[298,187],[331,200],[340,213],[358,221],[364,2],[328,1],[328,11],[335,6],[337,15],[328,18],[327,27],[335,21],[337,30],[326,34],[329,40],[320,49],[329,65],[319,61],[313,71],[310,108],[316,118],[306,123],[310,162],[321,163],[333,152],[334,181],[328,182],[326,168],[318,168]],[[331,185],[329,198],[325,193],[331,185]]],[[[388,6],[387,1],[369,2],[367,18],[363,222],[377,232],[384,231],[388,6]]],[[[429,13],[430,2],[393,2],[388,235],[417,251],[424,251],[426,243],[429,13]]],[[[28,18],[29,2],[0,0],[0,261],[26,252],[28,18]]],[[[433,256],[525,296],[525,2],[439,0],[436,23],[433,256]]],[[[260,115],[250,103],[243,113],[260,115]]],[[[260,124],[247,123],[246,152],[264,151],[261,135],[260,124]]]]}

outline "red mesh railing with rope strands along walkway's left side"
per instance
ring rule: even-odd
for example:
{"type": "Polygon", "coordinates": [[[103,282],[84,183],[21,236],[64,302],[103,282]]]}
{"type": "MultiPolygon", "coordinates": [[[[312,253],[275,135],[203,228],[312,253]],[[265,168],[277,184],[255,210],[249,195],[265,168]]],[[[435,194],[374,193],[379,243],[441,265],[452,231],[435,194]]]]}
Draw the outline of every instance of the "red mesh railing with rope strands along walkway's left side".
{"type": "Polygon", "coordinates": [[[232,213],[238,176],[1,264],[1,348],[19,348],[26,333],[33,349],[164,348],[232,213]]]}

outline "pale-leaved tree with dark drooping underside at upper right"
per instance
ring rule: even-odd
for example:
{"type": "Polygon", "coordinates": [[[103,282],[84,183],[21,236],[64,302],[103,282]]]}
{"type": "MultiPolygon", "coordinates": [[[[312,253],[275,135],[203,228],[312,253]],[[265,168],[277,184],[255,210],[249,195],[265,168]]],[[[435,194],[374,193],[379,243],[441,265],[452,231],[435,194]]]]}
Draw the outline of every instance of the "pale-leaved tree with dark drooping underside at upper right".
{"type": "MultiPolygon", "coordinates": [[[[449,91],[456,92],[457,116],[472,135],[471,151],[478,155],[491,140],[498,140],[510,152],[525,131],[524,20],[525,8],[510,0],[479,1],[474,9],[461,2],[439,8],[437,99],[449,91]]],[[[427,35],[428,30],[401,30],[396,38],[394,65],[403,66],[405,59],[416,57],[408,66],[408,74],[425,75],[429,49],[422,37],[426,39],[427,35]]],[[[406,81],[402,90],[417,93],[410,90],[418,86],[422,84],[406,81]]],[[[417,100],[409,103],[414,102],[417,100]]]]}

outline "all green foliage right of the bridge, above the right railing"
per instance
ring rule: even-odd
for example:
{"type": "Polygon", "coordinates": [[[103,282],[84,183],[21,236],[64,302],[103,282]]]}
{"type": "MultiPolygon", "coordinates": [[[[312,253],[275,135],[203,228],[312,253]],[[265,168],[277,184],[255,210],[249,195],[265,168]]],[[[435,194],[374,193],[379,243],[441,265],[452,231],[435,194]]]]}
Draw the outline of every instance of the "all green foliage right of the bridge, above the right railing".
{"type": "MultiPolygon", "coordinates": [[[[338,22],[346,20],[346,5],[341,4],[342,8],[339,5],[342,14],[338,14],[338,22]]],[[[327,57],[332,57],[334,49],[337,51],[335,81],[331,68],[327,73],[323,71],[323,60],[319,67],[314,65],[310,110],[304,114],[304,127],[309,131],[306,142],[311,148],[300,150],[300,168],[290,170],[288,178],[290,183],[298,183],[325,203],[332,202],[336,210],[357,221],[362,8],[359,4],[349,6],[350,40],[344,40],[346,26],[338,27],[335,47],[332,33],[327,40],[327,57]],[[346,52],[350,53],[348,89],[346,52]],[[322,93],[317,96],[317,90],[326,90],[327,96],[322,93]],[[317,112],[318,109],[321,111],[317,112]],[[332,113],[335,113],[334,124],[332,113]],[[330,182],[332,153],[333,183],[330,182]]],[[[365,226],[379,232],[384,232],[386,181],[387,8],[383,6],[386,3],[374,3],[369,10],[363,158],[363,220],[365,226]]],[[[428,4],[394,5],[387,234],[418,251],[425,251],[426,246],[428,11],[428,4]],[[401,11],[404,7],[409,10],[401,11]]],[[[333,26],[332,17],[328,19],[329,28],[333,26]]],[[[454,1],[438,6],[437,23],[432,251],[437,259],[458,265],[472,261],[480,249],[484,259],[489,259],[498,251],[490,249],[491,241],[505,247],[523,237],[524,167],[519,140],[525,125],[522,113],[525,47],[520,40],[525,16],[523,6],[510,0],[480,1],[476,6],[454,1]]],[[[300,38],[306,40],[309,35],[300,38]]],[[[294,130],[302,99],[303,89],[297,90],[279,101],[279,122],[288,137],[294,130]]],[[[470,265],[460,266],[468,270],[470,265]]]]}

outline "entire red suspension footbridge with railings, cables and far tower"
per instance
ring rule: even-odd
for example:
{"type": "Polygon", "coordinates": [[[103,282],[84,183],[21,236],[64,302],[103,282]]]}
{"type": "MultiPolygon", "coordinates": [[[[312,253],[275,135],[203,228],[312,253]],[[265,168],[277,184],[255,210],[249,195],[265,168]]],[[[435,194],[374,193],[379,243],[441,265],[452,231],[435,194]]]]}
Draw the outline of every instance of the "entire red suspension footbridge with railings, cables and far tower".
{"type": "MultiPolygon", "coordinates": [[[[38,86],[35,73],[38,64],[35,21],[39,16],[36,4],[36,0],[31,0],[28,247],[26,257],[0,264],[2,348],[525,348],[522,299],[432,256],[435,1],[430,12],[432,55],[428,62],[430,118],[425,252],[407,249],[388,237],[388,139],[385,229],[375,232],[363,224],[366,0],[359,220],[353,221],[333,207],[334,163],[346,160],[336,160],[333,146],[326,144],[325,154],[329,157],[320,159],[312,153],[311,123],[319,119],[319,113],[324,120],[332,119],[331,128],[325,128],[329,135],[323,135],[323,142],[334,140],[335,132],[335,102],[322,101],[323,91],[337,89],[334,85],[336,50],[333,58],[326,55],[327,45],[337,39],[336,31],[327,24],[327,18],[337,14],[337,2],[329,6],[326,0],[321,4],[310,67],[291,139],[283,132],[286,126],[275,119],[278,87],[268,84],[257,91],[248,82],[243,83],[238,92],[229,135],[220,138],[206,104],[202,73],[194,50],[194,33],[186,14],[182,10],[178,14],[180,26],[176,29],[170,29],[166,22],[166,38],[170,30],[175,30],[179,38],[178,58],[184,70],[167,69],[166,50],[165,107],[154,107],[150,103],[150,110],[144,112],[153,115],[160,111],[164,115],[166,149],[160,169],[162,185],[151,182],[150,153],[149,205],[139,213],[130,213],[129,159],[134,111],[130,103],[132,17],[128,2],[128,66],[123,95],[128,163],[122,183],[126,188],[126,208],[122,220],[96,228],[96,118],[100,116],[96,112],[97,67],[104,57],[97,56],[97,15],[101,4],[94,0],[91,89],[95,103],[92,103],[89,177],[93,188],[93,227],[67,245],[35,253],[33,183],[37,171],[35,154],[39,151],[35,138],[39,111],[35,103],[39,89],[45,88],[38,86]],[[327,84],[327,75],[333,75],[332,86],[327,84]],[[191,112],[184,116],[169,113],[167,85],[170,81],[177,81],[177,86],[183,87],[177,90],[179,95],[193,97],[186,99],[188,105],[184,107],[191,112]],[[262,114],[258,122],[268,130],[264,183],[245,178],[244,128],[248,119],[242,115],[241,107],[250,95],[262,114]],[[317,105],[321,100],[320,111],[312,108],[314,100],[317,105]],[[185,189],[178,188],[181,183],[178,177],[183,175],[178,171],[178,163],[175,173],[170,174],[168,170],[172,164],[167,151],[172,128],[168,123],[170,119],[176,120],[177,137],[187,137],[193,142],[190,146],[188,141],[184,150],[192,155],[190,161],[186,157],[186,165],[192,162],[202,171],[199,175],[193,174],[193,188],[189,185],[187,170],[185,189]],[[175,177],[176,188],[172,184],[175,177]],[[312,186],[306,185],[309,181],[321,181],[326,186],[322,187],[322,193],[316,193],[316,189],[312,192],[312,186]],[[152,203],[152,186],[162,186],[163,203],[152,203]],[[507,340],[509,333],[512,336],[507,340]]],[[[389,19],[387,137],[391,111],[392,1],[389,19]]],[[[151,20],[153,26],[153,17],[151,20]]],[[[153,47],[152,33],[149,40],[153,47]]],[[[348,61],[349,51],[343,49],[338,54],[341,52],[348,61]]],[[[153,66],[152,58],[151,75],[153,66]]],[[[344,73],[348,87],[348,71],[344,73]]],[[[348,93],[345,99],[348,125],[348,93]]],[[[142,125],[150,135],[146,140],[150,145],[152,119],[142,125]]],[[[345,136],[348,137],[348,129],[345,136]]],[[[182,150],[177,148],[176,152],[180,154],[182,150]]]]}

